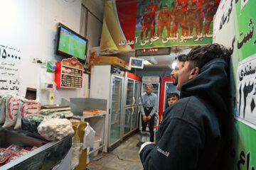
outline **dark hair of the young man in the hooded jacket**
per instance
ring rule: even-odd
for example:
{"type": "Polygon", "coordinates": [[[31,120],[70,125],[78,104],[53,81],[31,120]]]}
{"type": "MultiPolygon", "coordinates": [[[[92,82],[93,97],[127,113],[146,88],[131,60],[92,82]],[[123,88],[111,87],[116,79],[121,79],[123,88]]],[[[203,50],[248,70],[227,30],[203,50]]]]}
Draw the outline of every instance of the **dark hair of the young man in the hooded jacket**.
{"type": "Polygon", "coordinates": [[[188,55],[185,56],[185,60],[189,62],[189,69],[195,67],[201,69],[204,64],[216,58],[222,58],[226,62],[229,62],[230,55],[231,53],[226,47],[215,43],[193,47],[192,50],[188,52],[188,55]]]}

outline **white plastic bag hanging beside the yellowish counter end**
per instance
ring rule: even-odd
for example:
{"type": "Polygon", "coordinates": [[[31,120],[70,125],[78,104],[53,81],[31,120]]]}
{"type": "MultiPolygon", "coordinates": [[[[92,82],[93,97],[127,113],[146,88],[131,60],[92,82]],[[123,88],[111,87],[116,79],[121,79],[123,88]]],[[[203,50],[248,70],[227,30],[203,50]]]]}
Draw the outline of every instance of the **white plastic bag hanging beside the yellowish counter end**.
{"type": "Polygon", "coordinates": [[[87,147],[93,147],[95,140],[95,130],[92,129],[92,127],[87,123],[87,126],[85,128],[85,135],[83,138],[83,144],[82,149],[85,149],[87,147]]]}

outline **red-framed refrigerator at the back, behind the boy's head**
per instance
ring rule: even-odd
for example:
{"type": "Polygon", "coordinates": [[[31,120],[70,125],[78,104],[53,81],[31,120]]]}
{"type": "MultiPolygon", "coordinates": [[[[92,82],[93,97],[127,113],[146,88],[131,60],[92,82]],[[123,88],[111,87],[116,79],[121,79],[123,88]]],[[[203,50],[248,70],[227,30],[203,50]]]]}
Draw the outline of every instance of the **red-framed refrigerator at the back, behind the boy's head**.
{"type": "Polygon", "coordinates": [[[167,103],[167,94],[169,93],[177,93],[178,95],[180,94],[180,92],[176,89],[176,86],[174,86],[173,81],[174,81],[174,78],[172,77],[161,78],[161,94],[160,94],[160,101],[159,101],[160,120],[164,110],[169,107],[167,103]]]}

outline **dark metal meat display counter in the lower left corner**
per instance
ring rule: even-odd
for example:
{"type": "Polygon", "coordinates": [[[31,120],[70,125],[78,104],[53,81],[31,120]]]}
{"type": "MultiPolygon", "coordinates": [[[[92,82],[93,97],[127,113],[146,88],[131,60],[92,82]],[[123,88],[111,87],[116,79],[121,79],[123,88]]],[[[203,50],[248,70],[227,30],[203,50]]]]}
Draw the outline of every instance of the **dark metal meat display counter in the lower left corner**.
{"type": "Polygon", "coordinates": [[[60,169],[63,164],[65,164],[66,168],[70,166],[71,169],[71,136],[49,142],[40,135],[31,132],[0,127],[0,148],[9,147],[12,144],[21,147],[36,146],[38,148],[8,164],[0,166],[0,170],[60,169]]]}

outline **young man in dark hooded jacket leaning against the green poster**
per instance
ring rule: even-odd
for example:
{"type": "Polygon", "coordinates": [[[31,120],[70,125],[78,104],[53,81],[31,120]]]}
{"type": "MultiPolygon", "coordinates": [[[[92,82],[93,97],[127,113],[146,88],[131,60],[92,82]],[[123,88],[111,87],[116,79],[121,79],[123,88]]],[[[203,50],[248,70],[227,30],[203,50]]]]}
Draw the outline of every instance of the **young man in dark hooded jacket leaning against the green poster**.
{"type": "Polygon", "coordinates": [[[164,111],[156,144],[142,145],[145,170],[221,169],[229,60],[223,45],[198,46],[171,72],[181,98],[164,111]]]}

